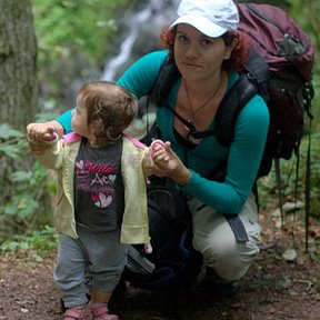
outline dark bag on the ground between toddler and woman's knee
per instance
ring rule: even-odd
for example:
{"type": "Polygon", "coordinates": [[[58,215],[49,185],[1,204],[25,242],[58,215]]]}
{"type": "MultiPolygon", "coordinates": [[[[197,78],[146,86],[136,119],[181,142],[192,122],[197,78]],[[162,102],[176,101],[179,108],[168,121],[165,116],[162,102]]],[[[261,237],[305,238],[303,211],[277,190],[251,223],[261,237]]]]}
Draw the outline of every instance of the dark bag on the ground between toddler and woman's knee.
{"type": "Polygon", "coordinates": [[[191,216],[186,197],[166,184],[166,178],[149,178],[148,216],[152,252],[129,246],[122,280],[151,291],[189,287],[197,279],[202,257],[192,248],[191,216]]]}

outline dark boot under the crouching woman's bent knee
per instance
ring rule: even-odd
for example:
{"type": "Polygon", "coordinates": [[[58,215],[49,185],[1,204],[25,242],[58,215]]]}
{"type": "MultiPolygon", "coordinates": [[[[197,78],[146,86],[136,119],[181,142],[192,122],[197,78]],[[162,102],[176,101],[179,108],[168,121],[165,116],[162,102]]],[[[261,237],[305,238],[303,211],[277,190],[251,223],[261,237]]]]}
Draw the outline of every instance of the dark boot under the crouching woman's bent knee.
{"type": "Polygon", "coordinates": [[[238,281],[228,281],[220,278],[212,268],[207,267],[203,278],[206,289],[214,296],[232,297],[238,292],[238,281]]]}

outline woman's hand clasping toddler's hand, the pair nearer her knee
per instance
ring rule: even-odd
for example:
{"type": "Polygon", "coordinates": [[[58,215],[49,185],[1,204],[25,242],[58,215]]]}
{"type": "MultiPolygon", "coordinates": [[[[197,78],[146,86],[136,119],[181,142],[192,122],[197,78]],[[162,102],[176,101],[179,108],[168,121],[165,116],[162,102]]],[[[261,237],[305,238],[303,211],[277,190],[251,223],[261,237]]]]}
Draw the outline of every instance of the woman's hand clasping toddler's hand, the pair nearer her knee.
{"type": "Polygon", "coordinates": [[[157,177],[169,177],[179,184],[186,184],[191,178],[191,172],[170,146],[169,141],[166,143],[156,143],[149,150],[146,167],[149,172],[157,177]]]}

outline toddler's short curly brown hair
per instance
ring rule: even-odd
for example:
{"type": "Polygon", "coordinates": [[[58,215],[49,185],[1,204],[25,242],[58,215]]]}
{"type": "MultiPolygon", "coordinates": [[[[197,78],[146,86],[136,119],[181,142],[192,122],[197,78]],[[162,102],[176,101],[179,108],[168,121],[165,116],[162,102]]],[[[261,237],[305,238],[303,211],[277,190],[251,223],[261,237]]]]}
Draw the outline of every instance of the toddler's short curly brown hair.
{"type": "Polygon", "coordinates": [[[138,112],[138,100],[127,89],[109,81],[91,81],[79,91],[77,102],[87,109],[87,126],[98,144],[122,137],[138,112]]]}

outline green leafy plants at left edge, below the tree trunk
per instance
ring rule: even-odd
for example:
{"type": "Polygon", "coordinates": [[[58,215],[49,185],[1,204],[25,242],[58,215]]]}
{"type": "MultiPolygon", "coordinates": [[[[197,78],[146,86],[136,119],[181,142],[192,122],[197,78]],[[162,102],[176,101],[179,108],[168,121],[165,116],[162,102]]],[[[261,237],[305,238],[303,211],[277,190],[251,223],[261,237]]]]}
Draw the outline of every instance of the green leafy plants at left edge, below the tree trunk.
{"type": "Polygon", "coordinates": [[[50,222],[50,194],[56,189],[54,179],[48,183],[48,170],[30,154],[24,133],[6,123],[0,126],[0,159],[6,177],[0,201],[1,241],[50,222]]]}

